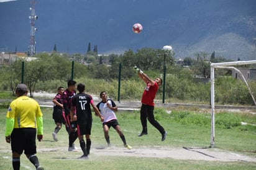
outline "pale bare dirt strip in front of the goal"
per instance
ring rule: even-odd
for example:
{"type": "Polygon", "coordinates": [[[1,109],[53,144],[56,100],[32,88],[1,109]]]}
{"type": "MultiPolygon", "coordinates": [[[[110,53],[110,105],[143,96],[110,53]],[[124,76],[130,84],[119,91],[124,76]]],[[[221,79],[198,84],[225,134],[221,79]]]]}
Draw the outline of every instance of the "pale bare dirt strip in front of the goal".
{"type": "MultiPolygon", "coordinates": [[[[38,151],[56,152],[63,150],[66,150],[66,148],[44,148],[38,151]]],[[[80,152],[81,150],[78,149],[78,153],[80,152]]],[[[138,158],[170,158],[198,161],[242,161],[256,163],[256,158],[218,148],[169,148],[162,146],[143,146],[128,150],[127,148],[120,148],[116,146],[111,146],[111,148],[104,148],[104,146],[93,146],[91,149],[91,157],[94,156],[131,156],[138,158]]]]}

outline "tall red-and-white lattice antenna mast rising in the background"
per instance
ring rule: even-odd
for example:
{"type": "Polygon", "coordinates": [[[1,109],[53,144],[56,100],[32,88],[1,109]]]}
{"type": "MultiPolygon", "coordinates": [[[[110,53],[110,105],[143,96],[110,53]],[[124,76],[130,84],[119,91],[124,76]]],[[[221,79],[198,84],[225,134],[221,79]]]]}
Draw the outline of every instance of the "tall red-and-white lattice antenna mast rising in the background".
{"type": "Polygon", "coordinates": [[[27,53],[28,56],[35,55],[35,32],[37,28],[35,27],[35,20],[38,19],[38,16],[35,15],[35,0],[30,1],[32,7],[29,8],[31,14],[29,16],[30,20],[30,39],[29,39],[29,51],[27,53]]]}

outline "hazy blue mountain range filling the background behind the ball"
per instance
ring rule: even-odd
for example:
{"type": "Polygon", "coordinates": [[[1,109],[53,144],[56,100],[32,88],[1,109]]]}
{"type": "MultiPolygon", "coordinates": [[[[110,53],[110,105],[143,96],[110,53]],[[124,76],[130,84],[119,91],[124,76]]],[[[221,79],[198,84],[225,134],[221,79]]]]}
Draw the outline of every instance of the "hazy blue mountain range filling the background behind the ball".
{"type": "MultiPolygon", "coordinates": [[[[123,53],[171,45],[175,58],[256,59],[255,0],[36,0],[37,52],[123,53]],[[140,23],[144,30],[132,32],[140,23]]],[[[27,51],[29,0],[0,1],[0,50],[27,51]]]]}

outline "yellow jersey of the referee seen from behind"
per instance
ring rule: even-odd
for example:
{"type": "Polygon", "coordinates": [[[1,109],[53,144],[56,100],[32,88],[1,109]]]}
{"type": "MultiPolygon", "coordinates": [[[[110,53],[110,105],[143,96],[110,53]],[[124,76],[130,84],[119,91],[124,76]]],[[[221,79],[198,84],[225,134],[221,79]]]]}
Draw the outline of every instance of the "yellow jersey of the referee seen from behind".
{"type": "MultiPolygon", "coordinates": [[[[13,128],[37,128],[39,126],[39,131],[41,131],[42,125],[38,120],[42,119],[42,115],[37,101],[27,96],[21,96],[11,102],[6,118],[14,120],[13,128]]],[[[12,127],[7,128],[10,130],[12,127]]]]}

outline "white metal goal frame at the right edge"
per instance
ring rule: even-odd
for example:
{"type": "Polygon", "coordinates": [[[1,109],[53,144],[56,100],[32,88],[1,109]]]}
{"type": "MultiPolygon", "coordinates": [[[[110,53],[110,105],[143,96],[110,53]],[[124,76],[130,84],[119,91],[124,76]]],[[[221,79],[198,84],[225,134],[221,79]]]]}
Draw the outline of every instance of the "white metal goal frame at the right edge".
{"type": "Polygon", "coordinates": [[[256,64],[256,60],[211,63],[211,146],[210,146],[211,148],[214,148],[214,145],[215,145],[215,102],[214,102],[215,101],[215,92],[214,92],[215,68],[233,69],[237,71],[237,73],[240,74],[246,86],[249,88],[252,99],[254,100],[254,104],[256,105],[254,96],[252,95],[252,92],[250,90],[249,85],[247,84],[246,79],[244,78],[243,74],[239,71],[239,69],[234,67],[237,65],[251,65],[251,64],[256,64]]]}

